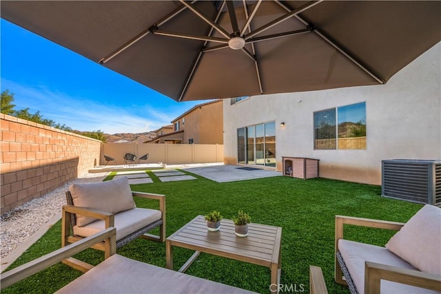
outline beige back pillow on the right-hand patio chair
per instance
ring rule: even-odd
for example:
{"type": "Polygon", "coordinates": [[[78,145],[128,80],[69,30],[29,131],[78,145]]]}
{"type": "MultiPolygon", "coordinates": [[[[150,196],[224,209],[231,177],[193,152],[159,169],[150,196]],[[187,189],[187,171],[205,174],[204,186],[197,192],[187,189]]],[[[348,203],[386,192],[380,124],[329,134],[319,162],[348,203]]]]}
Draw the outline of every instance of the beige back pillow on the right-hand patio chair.
{"type": "Polygon", "coordinates": [[[420,271],[441,275],[441,209],[424,205],[386,248],[420,271]]]}

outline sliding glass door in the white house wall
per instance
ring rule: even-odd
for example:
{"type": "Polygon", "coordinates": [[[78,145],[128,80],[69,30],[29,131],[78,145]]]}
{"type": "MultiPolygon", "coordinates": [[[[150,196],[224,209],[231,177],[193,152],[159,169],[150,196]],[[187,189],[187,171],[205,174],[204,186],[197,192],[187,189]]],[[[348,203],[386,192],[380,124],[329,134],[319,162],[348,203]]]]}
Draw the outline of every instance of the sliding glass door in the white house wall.
{"type": "Polygon", "coordinates": [[[237,129],[238,163],[276,167],[276,123],[237,129]]]}

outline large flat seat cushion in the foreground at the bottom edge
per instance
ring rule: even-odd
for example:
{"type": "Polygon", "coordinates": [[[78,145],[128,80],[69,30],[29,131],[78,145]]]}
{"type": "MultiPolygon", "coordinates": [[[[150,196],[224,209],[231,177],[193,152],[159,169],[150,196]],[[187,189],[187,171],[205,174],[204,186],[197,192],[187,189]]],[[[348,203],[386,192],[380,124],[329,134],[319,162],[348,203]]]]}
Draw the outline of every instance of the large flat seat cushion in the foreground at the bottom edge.
{"type": "Polygon", "coordinates": [[[252,293],[112,255],[57,293],[252,293]]]}

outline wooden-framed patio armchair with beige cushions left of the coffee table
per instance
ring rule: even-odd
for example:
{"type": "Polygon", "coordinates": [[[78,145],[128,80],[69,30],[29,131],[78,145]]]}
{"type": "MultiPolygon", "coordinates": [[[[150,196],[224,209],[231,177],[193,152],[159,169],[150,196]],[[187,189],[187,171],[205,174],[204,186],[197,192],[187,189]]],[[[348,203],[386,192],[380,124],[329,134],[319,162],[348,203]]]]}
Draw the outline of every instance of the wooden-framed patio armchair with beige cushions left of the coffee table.
{"type": "MultiPolygon", "coordinates": [[[[94,233],[116,227],[116,248],[141,237],[158,242],[165,241],[165,196],[132,192],[126,177],[74,184],[66,192],[68,205],[63,206],[61,246],[77,242],[94,233]],[[159,200],[159,210],[136,208],[133,196],[159,200]],[[147,234],[159,227],[159,235],[147,234]]],[[[105,251],[105,244],[95,244],[94,249],[105,251]]],[[[87,271],[78,260],[65,260],[76,264],[76,269],[87,271]]]]}

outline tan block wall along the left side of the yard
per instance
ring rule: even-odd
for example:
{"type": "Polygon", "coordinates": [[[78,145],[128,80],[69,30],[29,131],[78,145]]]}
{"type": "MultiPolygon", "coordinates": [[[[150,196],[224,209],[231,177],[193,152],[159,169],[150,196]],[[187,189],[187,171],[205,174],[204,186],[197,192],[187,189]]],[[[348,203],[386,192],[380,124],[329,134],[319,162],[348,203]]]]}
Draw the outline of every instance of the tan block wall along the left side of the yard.
{"type": "Polygon", "coordinates": [[[0,114],[1,213],[98,165],[101,141],[0,114]]]}

